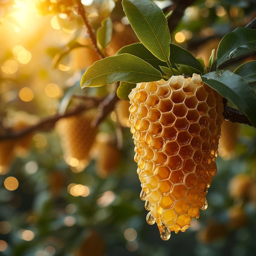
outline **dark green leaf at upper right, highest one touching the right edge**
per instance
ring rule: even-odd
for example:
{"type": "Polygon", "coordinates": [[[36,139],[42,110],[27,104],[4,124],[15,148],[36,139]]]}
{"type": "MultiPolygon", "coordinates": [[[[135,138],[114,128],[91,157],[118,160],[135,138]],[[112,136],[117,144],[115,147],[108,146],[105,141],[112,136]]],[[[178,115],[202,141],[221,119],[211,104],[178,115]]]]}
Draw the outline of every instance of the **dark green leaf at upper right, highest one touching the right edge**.
{"type": "Polygon", "coordinates": [[[216,52],[217,66],[220,67],[231,58],[256,50],[256,29],[238,27],[226,34],[216,52]]]}

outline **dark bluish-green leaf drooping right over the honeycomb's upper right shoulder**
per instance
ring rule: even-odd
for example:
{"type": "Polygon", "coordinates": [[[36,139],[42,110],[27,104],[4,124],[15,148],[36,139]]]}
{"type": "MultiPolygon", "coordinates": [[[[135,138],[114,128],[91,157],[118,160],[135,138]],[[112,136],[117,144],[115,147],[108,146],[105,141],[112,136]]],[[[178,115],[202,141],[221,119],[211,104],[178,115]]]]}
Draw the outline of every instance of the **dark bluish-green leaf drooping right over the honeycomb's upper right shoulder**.
{"type": "Polygon", "coordinates": [[[202,81],[231,101],[256,126],[256,94],[241,76],[229,70],[210,72],[202,81]]]}

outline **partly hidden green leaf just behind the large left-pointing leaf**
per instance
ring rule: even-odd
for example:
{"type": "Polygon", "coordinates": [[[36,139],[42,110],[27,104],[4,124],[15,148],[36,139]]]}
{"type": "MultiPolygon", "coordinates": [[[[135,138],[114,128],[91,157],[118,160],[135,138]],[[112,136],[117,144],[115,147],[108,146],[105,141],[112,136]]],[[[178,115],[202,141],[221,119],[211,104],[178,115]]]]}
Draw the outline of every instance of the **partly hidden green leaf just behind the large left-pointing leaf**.
{"type": "Polygon", "coordinates": [[[166,62],[160,61],[142,43],[134,43],[121,48],[116,54],[128,53],[141,58],[160,71],[159,66],[167,66],[166,62]]]}

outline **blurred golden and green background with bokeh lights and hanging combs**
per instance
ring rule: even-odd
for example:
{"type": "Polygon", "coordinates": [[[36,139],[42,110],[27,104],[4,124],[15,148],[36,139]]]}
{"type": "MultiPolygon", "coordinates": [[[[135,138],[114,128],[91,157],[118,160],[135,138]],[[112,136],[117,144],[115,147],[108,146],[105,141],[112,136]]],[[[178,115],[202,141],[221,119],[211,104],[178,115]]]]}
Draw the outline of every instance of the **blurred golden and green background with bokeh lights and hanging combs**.
{"type": "MultiPolygon", "coordinates": [[[[222,36],[256,17],[254,0],[155,2],[181,11],[175,27],[169,19],[172,41],[206,62],[222,36]]],[[[82,3],[94,31],[113,22],[107,56],[137,42],[120,0],[82,3]]],[[[223,124],[209,207],[164,242],[139,199],[129,104],[115,86],[80,89],[100,56],[77,2],[2,0],[0,34],[0,255],[255,253],[255,128],[223,124]]]]}

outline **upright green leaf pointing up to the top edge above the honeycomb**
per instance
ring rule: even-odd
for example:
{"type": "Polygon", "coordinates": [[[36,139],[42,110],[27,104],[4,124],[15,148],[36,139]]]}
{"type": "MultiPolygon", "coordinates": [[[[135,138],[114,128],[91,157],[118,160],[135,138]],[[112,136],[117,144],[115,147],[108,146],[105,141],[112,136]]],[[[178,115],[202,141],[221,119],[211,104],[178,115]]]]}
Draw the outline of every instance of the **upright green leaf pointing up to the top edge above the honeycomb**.
{"type": "Polygon", "coordinates": [[[122,4],[141,43],[161,61],[168,61],[171,35],[163,11],[149,0],[123,0],[122,4]]]}

